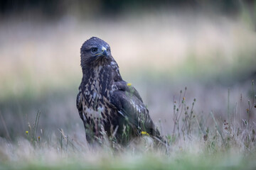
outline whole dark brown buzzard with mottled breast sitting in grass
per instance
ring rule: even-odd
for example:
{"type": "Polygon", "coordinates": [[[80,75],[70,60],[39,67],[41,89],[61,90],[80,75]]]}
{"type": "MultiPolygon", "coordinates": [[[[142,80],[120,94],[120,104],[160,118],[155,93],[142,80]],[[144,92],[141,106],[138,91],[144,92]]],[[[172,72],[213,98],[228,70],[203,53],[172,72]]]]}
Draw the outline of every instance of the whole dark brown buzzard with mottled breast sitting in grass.
{"type": "Polygon", "coordinates": [[[82,82],[76,103],[87,142],[99,140],[102,130],[122,145],[142,134],[161,140],[138,91],[122,79],[110,45],[92,37],[80,55],[82,82]]]}

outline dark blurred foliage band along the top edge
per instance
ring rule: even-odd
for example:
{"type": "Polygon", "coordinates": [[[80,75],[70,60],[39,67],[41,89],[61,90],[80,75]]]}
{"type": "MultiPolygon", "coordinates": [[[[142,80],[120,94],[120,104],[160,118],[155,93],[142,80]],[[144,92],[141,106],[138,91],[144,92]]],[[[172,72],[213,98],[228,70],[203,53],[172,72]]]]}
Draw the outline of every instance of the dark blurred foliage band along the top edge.
{"type": "MultiPolygon", "coordinates": [[[[245,4],[253,4],[253,1],[245,1],[245,4]]],[[[238,13],[240,1],[218,0],[218,1],[198,1],[198,0],[161,0],[161,1],[136,1],[136,0],[3,0],[0,1],[0,14],[8,16],[14,13],[38,13],[48,19],[60,18],[65,13],[75,13],[80,18],[95,18],[98,16],[117,16],[127,11],[152,11],[161,8],[190,8],[191,11],[198,11],[203,8],[210,11],[217,10],[220,13],[234,15],[238,13]]],[[[33,15],[31,15],[33,17],[33,15]]]]}

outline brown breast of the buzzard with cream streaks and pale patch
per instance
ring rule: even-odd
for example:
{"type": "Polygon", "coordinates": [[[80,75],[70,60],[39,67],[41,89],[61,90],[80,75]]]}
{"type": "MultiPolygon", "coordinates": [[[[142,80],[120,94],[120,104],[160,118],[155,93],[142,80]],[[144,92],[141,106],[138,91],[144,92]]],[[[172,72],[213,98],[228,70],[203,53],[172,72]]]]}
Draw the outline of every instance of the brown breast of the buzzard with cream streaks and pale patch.
{"type": "Polygon", "coordinates": [[[83,113],[87,118],[107,119],[112,113],[110,109],[110,96],[114,87],[112,72],[108,68],[98,67],[86,75],[83,91],[83,113]]]}

